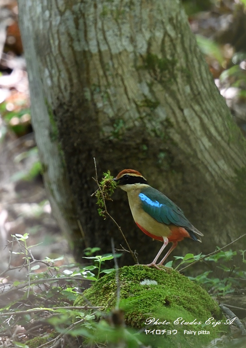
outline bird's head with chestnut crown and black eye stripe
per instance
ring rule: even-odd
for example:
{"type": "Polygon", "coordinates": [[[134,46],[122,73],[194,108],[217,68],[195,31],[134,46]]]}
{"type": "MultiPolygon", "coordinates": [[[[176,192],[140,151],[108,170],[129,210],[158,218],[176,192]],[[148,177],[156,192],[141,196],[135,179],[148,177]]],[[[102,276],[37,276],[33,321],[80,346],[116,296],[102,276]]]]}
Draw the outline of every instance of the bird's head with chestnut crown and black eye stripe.
{"type": "Polygon", "coordinates": [[[130,191],[148,185],[145,177],[141,173],[134,171],[134,169],[124,169],[113,180],[124,191],[130,191]]]}

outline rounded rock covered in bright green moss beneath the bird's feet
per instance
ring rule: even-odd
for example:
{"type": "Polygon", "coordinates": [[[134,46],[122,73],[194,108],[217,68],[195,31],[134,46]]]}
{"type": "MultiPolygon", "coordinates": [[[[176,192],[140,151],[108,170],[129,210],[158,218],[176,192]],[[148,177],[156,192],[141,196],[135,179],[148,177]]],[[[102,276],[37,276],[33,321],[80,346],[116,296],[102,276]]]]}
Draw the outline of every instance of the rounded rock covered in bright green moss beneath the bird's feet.
{"type": "MultiPolygon", "coordinates": [[[[147,333],[147,335],[151,335],[152,341],[161,336],[162,347],[163,339],[168,340],[168,347],[177,347],[177,342],[182,347],[200,347],[220,336],[221,331],[226,331],[227,326],[223,324],[215,327],[212,324],[205,324],[211,317],[214,318],[213,322],[222,323],[225,318],[217,303],[203,288],[177,271],[171,268],[162,271],[138,265],[122,267],[118,274],[120,307],[125,311],[126,324],[135,329],[144,327],[146,330],[155,330],[153,334],[147,333]],[[155,321],[161,323],[166,321],[168,324],[146,325],[148,318],[155,318],[155,321]],[[178,320],[179,324],[175,324],[178,318],[182,319],[178,320]],[[166,331],[159,334],[158,330],[166,331]],[[196,331],[196,334],[188,331],[196,331]],[[209,334],[205,331],[209,331],[209,334]]],[[[98,280],[82,296],[94,306],[106,307],[110,303],[110,308],[114,308],[116,290],[114,271],[98,280]]],[[[74,306],[85,304],[82,296],[78,296],[74,306]]],[[[158,343],[155,347],[161,346],[158,343]]]]}

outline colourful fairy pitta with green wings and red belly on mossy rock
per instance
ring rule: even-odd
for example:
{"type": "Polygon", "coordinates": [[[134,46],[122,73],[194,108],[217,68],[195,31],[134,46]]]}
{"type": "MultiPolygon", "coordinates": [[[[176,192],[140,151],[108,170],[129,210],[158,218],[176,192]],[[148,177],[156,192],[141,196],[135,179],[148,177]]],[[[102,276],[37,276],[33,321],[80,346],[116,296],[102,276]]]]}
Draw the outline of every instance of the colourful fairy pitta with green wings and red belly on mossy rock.
{"type": "Polygon", "coordinates": [[[154,260],[146,266],[162,265],[167,256],[185,237],[201,242],[198,231],[184,216],[182,210],[163,193],[151,187],[143,175],[133,169],[124,169],[115,178],[118,186],[127,192],[129,206],[137,226],[149,237],[163,241],[154,260]],[[172,242],[164,258],[157,260],[167,244],[172,242]]]}

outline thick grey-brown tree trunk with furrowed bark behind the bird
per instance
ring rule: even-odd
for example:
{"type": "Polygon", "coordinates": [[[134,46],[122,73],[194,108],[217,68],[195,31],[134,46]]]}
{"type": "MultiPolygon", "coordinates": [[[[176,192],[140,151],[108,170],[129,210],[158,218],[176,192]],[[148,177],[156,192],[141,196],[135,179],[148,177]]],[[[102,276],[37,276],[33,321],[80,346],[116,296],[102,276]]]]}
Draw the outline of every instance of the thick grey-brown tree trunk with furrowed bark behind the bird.
{"type": "MultiPolygon", "coordinates": [[[[43,176],[78,261],[86,246],[109,252],[112,235],[123,242],[90,197],[94,156],[99,175],[142,172],[204,233],[202,247],[188,240],[176,254],[244,232],[245,140],[179,1],[22,0],[19,24],[43,176]]],[[[124,192],[109,211],[152,260],[160,245],[135,227],[124,192]]]]}

